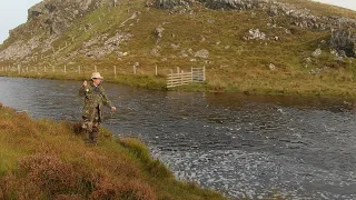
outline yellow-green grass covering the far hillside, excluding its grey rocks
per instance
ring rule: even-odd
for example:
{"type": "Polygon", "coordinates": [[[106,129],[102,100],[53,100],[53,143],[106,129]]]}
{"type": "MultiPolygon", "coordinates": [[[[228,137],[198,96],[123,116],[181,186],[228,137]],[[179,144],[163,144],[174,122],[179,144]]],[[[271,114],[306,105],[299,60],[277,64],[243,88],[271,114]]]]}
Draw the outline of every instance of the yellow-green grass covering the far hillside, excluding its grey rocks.
{"type": "MultiPolygon", "coordinates": [[[[298,8],[308,8],[312,13],[324,16],[348,16],[355,18],[355,12],[316,3],[309,0],[284,0],[298,8]]],[[[207,69],[207,81],[201,84],[192,84],[177,88],[175,90],[191,91],[228,91],[247,93],[268,94],[305,94],[305,96],[350,96],[356,97],[353,88],[355,84],[356,66],[353,58],[344,61],[335,61],[329,53],[328,40],[330,31],[315,31],[291,26],[288,17],[267,16],[265,11],[216,11],[205,9],[200,4],[194,4],[192,14],[168,13],[167,10],[146,8],[142,0],[120,1],[116,8],[102,7],[87,13],[78,19],[58,40],[53,42],[55,49],[68,47],[55,56],[50,56],[37,62],[29,62],[28,66],[55,66],[62,69],[66,64],[70,74],[23,74],[39,78],[70,78],[81,79],[89,77],[93,67],[102,72],[110,82],[128,86],[145,87],[151,89],[166,89],[165,76],[171,69],[179,67],[189,71],[191,67],[207,69]],[[138,11],[138,18],[130,20],[126,26],[121,22],[138,11]],[[86,24],[92,24],[88,31],[83,31],[86,24]],[[267,26],[267,24],[270,26],[267,26]],[[273,24],[277,27],[274,28],[273,24]],[[165,28],[164,37],[157,41],[154,34],[158,26],[165,28]],[[249,29],[259,29],[265,32],[269,41],[245,41],[249,29]],[[286,33],[289,30],[291,33],[286,33]],[[116,32],[132,34],[131,39],[121,44],[121,51],[128,56],[118,59],[116,53],[107,54],[100,59],[87,58],[78,54],[63,61],[69,53],[80,50],[82,43],[92,37],[108,33],[112,37],[116,32]],[[271,38],[278,37],[278,41],[271,38]],[[73,40],[72,40],[73,39],[73,40]],[[320,43],[325,40],[326,43],[320,43]],[[218,43],[218,44],[217,44],[218,43]],[[172,48],[171,44],[178,44],[172,48]],[[150,51],[159,46],[159,54],[152,56],[150,51]],[[322,48],[323,54],[313,58],[312,52],[322,48]],[[189,53],[200,49],[207,49],[210,53],[207,60],[197,59],[190,61],[194,54],[189,53]],[[179,53],[189,57],[179,57],[179,53]],[[306,58],[310,57],[312,62],[307,63],[306,58]],[[166,61],[165,61],[166,60],[166,61]],[[137,74],[132,74],[132,66],[139,62],[137,74]],[[268,69],[274,63],[277,70],[268,69]],[[85,67],[83,74],[76,74],[78,66],[85,67]],[[113,66],[118,74],[113,76],[113,66]],[[158,67],[159,76],[155,76],[155,68],[158,67]],[[325,68],[326,67],[326,68],[325,68]],[[313,70],[322,70],[320,74],[310,74],[313,70]]],[[[29,24],[34,23],[30,22],[29,24]]],[[[22,30],[22,29],[19,29],[22,30]]],[[[3,46],[8,47],[14,41],[11,38],[3,46]]],[[[1,47],[2,49],[3,47],[1,47]]],[[[13,64],[10,61],[0,62],[0,67],[13,64]]],[[[0,72],[1,76],[7,76],[0,72]]]]}

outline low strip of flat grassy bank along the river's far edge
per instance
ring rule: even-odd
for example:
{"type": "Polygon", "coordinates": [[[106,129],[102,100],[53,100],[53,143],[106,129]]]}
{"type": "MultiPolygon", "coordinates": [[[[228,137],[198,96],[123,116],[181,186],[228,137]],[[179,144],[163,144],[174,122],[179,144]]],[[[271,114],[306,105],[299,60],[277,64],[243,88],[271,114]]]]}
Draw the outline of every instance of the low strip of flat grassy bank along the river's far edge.
{"type": "MultiPolygon", "coordinates": [[[[238,92],[246,94],[278,94],[278,96],[325,96],[356,98],[354,76],[340,69],[332,74],[309,76],[303,73],[266,72],[264,70],[241,70],[235,73],[208,74],[208,81],[172,88],[170,90],[238,92]],[[238,76],[236,76],[238,73],[238,76]],[[278,73],[278,74],[276,74],[278,73]],[[209,78],[211,77],[211,78],[209,78]],[[219,78],[217,78],[219,77],[219,78]],[[222,81],[224,80],[224,81],[222,81]],[[229,84],[226,81],[235,81],[229,84]]],[[[0,72],[2,77],[24,77],[36,79],[89,80],[89,76],[65,73],[17,73],[0,72]]],[[[103,73],[105,76],[105,73],[103,73]]],[[[106,82],[120,83],[155,90],[168,90],[164,76],[117,74],[106,76],[106,82]]]]}

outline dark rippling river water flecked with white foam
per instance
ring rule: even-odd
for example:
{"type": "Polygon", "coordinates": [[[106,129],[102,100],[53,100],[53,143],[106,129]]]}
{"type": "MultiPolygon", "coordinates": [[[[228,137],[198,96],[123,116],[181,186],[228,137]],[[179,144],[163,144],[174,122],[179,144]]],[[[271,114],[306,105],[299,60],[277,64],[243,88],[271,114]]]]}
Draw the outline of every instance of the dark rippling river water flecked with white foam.
{"type": "MultiPolygon", "coordinates": [[[[78,121],[81,82],[0,78],[0,102],[78,121]]],[[[177,178],[230,199],[356,199],[356,109],[334,98],[152,91],[103,83],[103,126],[138,136],[177,178]]]]}

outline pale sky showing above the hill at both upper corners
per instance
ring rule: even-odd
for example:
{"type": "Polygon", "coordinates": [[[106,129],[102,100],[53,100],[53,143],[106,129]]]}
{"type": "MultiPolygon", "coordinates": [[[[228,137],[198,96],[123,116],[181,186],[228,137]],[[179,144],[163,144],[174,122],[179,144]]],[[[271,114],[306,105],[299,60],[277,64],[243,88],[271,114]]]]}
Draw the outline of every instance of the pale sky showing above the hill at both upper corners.
{"type": "MultiPolygon", "coordinates": [[[[27,10],[41,0],[0,0],[0,43],[9,37],[9,30],[27,20],[27,10]],[[20,2],[20,3],[19,3],[20,2]]],[[[356,11],[356,0],[315,0],[356,11]]]]}

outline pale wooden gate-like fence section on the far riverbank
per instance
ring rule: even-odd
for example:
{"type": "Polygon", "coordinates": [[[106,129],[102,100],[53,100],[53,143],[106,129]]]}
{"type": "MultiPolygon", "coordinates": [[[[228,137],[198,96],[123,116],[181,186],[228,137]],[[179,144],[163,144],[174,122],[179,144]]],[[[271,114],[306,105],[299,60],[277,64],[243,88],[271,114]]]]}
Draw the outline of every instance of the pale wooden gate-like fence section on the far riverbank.
{"type": "Polygon", "coordinates": [[[204,82],[205,80],[205,67],[191,68],[190,72],[178,71],[177,73],[171,72],[168,74],[167,88],[179,87],[192,82],[204,82]]]}

